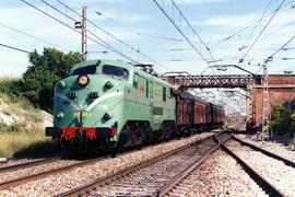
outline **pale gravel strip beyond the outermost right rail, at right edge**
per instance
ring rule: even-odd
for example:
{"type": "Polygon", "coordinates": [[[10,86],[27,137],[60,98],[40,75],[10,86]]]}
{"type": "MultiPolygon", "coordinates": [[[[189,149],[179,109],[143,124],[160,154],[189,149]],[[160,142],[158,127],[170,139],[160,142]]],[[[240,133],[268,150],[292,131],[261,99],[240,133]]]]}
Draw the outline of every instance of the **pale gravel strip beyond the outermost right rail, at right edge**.
{"type": "Polygon", "coordinates": [[[282,143],[276,143],[276,142],[271,142],[271,141],[263,141],[263,142],[257,141],[255,136],[252,136],[251,138],[246,137],[245,135],[235,135],[235,136],[244,141],[258,146],[267,151],[279,154],[291,161],[295,161],[295,151],[290,150],[288,147],[282,143]]]}

